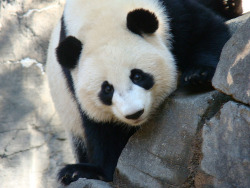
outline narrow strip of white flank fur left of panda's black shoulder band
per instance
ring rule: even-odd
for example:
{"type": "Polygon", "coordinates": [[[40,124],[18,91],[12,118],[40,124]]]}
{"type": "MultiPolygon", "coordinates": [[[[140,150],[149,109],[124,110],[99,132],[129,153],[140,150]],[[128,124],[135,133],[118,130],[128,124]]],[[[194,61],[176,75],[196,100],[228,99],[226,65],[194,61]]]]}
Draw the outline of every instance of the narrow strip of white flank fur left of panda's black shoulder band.
{"type": "Polygon", "coordinates": [[[46,72],[50,86],[50,92],[57,112],[67,133],[73,132],[75,135],[84,134],[81,118],[77,106],[67,88],[66,80],[55,56],[55,48],[58,46],[60,24],[55,27],[47,55],[46,72]]]}

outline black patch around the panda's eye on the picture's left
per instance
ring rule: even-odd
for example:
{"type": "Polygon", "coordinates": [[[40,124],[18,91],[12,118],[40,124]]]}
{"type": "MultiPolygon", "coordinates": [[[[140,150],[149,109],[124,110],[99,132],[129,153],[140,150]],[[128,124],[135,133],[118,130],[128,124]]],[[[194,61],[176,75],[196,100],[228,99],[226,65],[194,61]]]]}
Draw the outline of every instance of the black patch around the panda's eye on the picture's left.
{"type": "Polygon", "coordinates": [[[114,94],[114,87],[111,84],[109,84],[108,81],[104,81],[101,86],[101,91],[98,94],[102,103],[108,106],[112,105],[113,94],[114,94]]]}

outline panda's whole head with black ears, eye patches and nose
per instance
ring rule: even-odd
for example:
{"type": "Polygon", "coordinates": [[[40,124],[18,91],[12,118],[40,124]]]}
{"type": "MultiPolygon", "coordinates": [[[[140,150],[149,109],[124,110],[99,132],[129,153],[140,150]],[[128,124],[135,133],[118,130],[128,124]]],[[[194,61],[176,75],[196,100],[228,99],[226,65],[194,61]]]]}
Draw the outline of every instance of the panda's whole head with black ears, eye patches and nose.
{"type": "Polygon", "coordinates": [[[71,70],[76,97],[90,118],[133,126],[143,124],[175,89],[176,67],[154,13],[139,8],[125,18],[83,27],[56,53],[71,70]]]}

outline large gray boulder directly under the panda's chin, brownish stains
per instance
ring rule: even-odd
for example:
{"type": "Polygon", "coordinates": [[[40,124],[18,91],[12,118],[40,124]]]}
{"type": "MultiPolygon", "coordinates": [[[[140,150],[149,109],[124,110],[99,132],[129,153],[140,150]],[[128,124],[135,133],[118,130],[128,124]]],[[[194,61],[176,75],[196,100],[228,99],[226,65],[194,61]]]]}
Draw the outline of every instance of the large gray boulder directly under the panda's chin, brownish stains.
{"type": "Polygon", "coordinates": [[[115,184],[154,188],[184,184],[192,168],[198,130],[224,100],[217,91],[176,93],[159,115],[129,140],[118,161],[115,184]]]}

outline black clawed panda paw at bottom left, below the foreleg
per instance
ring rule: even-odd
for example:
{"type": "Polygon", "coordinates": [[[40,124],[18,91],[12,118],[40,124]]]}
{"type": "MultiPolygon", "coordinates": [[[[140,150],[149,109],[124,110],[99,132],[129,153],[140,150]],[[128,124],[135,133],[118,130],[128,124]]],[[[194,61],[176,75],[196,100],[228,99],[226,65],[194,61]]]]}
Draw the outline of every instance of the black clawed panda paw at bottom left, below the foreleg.
{"type": "Polygon", "coordinates": [[[103,180],[100,168],[91,164],[70,164],[62,168],[58,173],[58,181],[63,185],[69,185],[79,178],[103,180]]]}

